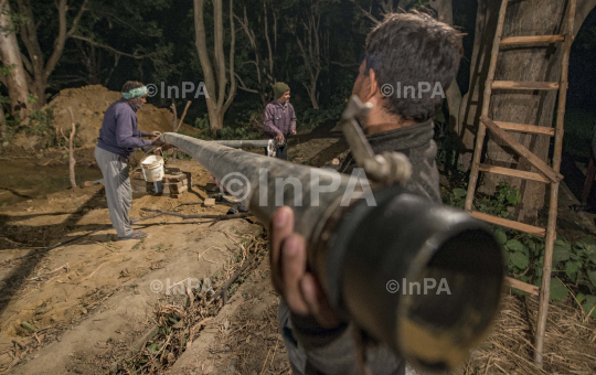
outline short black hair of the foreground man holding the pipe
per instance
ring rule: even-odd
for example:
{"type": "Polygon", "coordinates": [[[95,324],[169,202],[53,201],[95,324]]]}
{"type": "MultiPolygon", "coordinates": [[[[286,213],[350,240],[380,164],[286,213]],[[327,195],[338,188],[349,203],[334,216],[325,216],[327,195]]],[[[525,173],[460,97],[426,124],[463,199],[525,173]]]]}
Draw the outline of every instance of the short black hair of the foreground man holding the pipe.
{"type": "Polygon", "coordinates": [[[385,95],[387,111],[423,122],[443,105],[443,95],[457,75],[464,53],[462,34],[433,17],[421,13],[390,13],[366,38],[366,72],[372,68],[385,95]],[[428,83],[430,92],[421,90],[428,83]],[[414,87],[411,94],[405,87],[414,87]],[[389,94],[389,95],[387,95],[389,94]]]}

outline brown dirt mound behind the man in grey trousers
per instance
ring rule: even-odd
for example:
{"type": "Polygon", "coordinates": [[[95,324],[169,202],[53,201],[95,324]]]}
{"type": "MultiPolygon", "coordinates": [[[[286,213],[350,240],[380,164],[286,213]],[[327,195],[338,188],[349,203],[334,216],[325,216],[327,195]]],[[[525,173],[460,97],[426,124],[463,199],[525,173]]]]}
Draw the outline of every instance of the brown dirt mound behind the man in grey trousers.
{"type": "MultiPolygon", "coordinates": [[[[76,138],[81,141],[81,147],[94,146],[104,114],[114,101],[121,98],[118,92],[110,92],[100,85],[84,86],[81,88],[66,88],[58,93],[47,107],[54,107],[54,125],[62,128],[64,133],[68,133],[71,128],[71,117],[68,107],[73,109],[75,122],[78,125],[76,138]]],[[[157,108],[146,104],[137,113],[139,129],[145,131],[172,131],[172,113],[166,108],[157,108]]],[[[181,132],[196,135],[199,131],[189,125],[183,124],[181,132]]]]}

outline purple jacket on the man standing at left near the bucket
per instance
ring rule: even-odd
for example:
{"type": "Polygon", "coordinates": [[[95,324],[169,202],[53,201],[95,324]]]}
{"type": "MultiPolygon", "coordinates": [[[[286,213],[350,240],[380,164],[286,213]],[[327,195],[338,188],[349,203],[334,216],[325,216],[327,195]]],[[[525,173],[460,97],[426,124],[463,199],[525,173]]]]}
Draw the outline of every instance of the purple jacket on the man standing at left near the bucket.
{"type": "Polygon", "coordinates": [[[147,132],[138,129],[137,107],[121,98],[111,104],[104,115],[97,147],[129,159],[136,149],[151,144],[147,132]]]}

